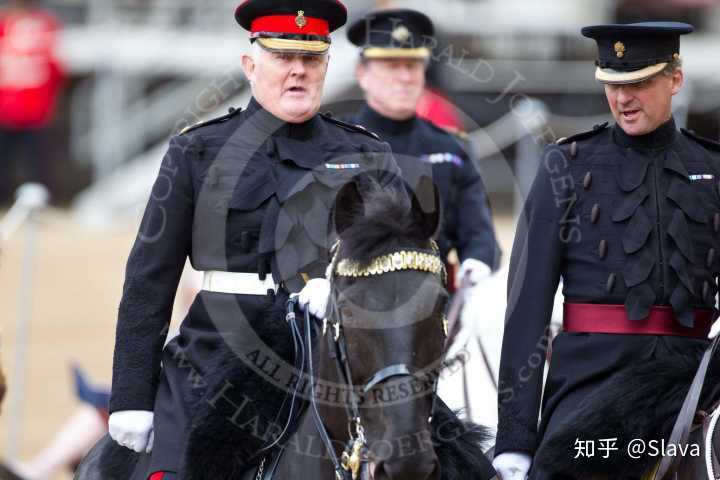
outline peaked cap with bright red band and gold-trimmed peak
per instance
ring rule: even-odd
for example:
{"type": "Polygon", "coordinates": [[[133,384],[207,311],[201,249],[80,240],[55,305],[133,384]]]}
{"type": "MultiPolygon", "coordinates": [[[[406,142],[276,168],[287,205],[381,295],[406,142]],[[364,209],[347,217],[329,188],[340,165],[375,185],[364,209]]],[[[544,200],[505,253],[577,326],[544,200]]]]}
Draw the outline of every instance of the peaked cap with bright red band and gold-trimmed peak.
{"type": "Polygon", "coordinates": [[[347,9],[339,0],[246,0],[235,19],[267,50],[323,54],[347,9]]]}

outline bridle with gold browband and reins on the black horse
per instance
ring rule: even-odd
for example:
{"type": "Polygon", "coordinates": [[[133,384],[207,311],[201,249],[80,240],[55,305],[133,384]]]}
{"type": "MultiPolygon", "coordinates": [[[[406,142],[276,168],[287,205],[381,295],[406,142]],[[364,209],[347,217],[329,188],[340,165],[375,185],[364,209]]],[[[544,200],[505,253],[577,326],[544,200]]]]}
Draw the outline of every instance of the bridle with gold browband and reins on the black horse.
{"type": "MultiPolygon", "coordinates": [[[[328,266],[326,277],[330,281],[332,299],[337,296],[337,285],[335,279],[337,277],[370,277],[379,276],[390,272],[402,271],[402,270],[414,270],[427,272],[439,277],[443,285],[447,280],[447,272],[445,271],[445,265],[440,258],[439,249],[437,244],[431,240],[429,249],[403,249],[388,252],[384,255],[377,256],[371,259],[369,262],[358,262],[352,259],[340,259],[340,241],[338,240],[330,250],[333,255],[332,261],[328,266]]],[[[294,321],[294,304],[291,306],[288,301],[288,321],[294,321]]],[[[337,458],[335,448],[330,440],[330,436],[325,428],[325,425],[320,417],[320,413],[317,407],[317,398],[315,395],[315,384],[313,379],[315,378],[315,372],[312,365],[312,327],[313,322],[309,312],[306,310],[304,316],[304,333],[305,333],[305,345],[306,345],[306,359],[308,366],[308,375],[310,376],[310,409],[313,417],[315,426],[320,434],[320,438],[325,446],[325,449],[330,456],[330,460],[333,463],[335,470],[336,480],[357,480],[360,474],[360,467],[365,461],[364,452],[367,450],[367,440],[365,438],[365,429],[363,427],[362,418],[360,416],[359,409],[359,398],[368,394],[373,388],[382,384],[383,382],[392,378],[401,377],[415,377],[412,369],[405,363],[398,363],[388,365],[381,368],[362,386],[360,392],[358,392],[352,381],[352,373],[350,368],[350,362],[348,359],[347,341],[343,330],[343,315],[342,311],[337,308],[335,302],[331,302],[331,311],[327,318],[322,322],[322,336],[328,339],[328,346],[331,358],[336,360],[336,366],[338,368],[338,374],[341,380],[345,383],[350,393],[349,403],[345,404],[346,414],[348,419],[348,433],[350,440],[348,441],[345,450],[343,451],[340,459],[337,458]],[[327,335],[328,326],[332,328],[333,335],[327,335]]],[[[445,335],[447,335],[447,322],[443,315],[443,327],[445,329],[445,335]]],[[[432,391],[432,408],[430,410],[430,417],[428,423],[432,421],[432,412],[435,409],[435,401],[437,398],[437,386],[438,386],[439,375],[436,375],[433,379],[433,391],[432,391]]]]}

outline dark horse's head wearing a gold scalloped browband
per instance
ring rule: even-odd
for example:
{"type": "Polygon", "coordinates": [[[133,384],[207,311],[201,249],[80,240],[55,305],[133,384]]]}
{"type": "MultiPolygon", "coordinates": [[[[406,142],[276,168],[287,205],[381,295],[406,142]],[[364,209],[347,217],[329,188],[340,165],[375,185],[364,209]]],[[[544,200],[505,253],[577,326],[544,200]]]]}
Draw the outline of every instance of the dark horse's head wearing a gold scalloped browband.
{"type": "Polygon", "coordinates": [[[439,222],[427,177],[413,192],[351,183],[338,195],[329,319],[375,480],[440,478],[430,436],[447,301],[431,240],[439,222]]]}

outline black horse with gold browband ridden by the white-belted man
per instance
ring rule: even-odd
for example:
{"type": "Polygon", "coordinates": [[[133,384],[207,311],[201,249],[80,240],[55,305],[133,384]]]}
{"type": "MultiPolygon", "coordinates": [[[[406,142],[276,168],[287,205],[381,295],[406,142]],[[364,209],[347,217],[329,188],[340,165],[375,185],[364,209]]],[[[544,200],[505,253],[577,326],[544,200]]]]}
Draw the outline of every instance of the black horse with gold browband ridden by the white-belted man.
{"type": "MultiPolygon", "coordinates": [[[[494,477],[485,430],[461,421],[436,393],[447,301],[431,240],[438,205],[429,179],[414,192],[355,182],[339,192],[328,320],[296,317],[290,303],[283,326],[294,332],[295,368],[305,380],[283,402],[293,421],[279,422],[253,458],[259,467],[247,471],[231,453],[242,441],[219,434],[232,415],[220,406],[191,435],[182,480],[494,477]]],[[[232,381],[232,367],[223,375],[232,381]]],[[[106,438],[75,478],[145,480],[145,457],[106,438]]]]}

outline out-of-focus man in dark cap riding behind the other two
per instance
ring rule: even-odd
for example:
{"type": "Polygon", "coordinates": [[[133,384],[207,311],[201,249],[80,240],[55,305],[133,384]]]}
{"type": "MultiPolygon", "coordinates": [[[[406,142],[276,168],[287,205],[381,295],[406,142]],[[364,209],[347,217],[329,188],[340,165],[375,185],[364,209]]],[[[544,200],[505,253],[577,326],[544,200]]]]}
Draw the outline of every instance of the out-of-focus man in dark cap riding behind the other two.
{"type": "Polygon", "coordinates": [[[357,20],[347,35],[360,47],[356,76],[366,98],[352,122],[390,143],[411,185],[422,174],[433,178],[443,204],[441,253],[446,258],[457,249],[458,277],[470,272],[477,282],[498,267],[500,250],[469,142],[415,114],[430,61],[431,20],[414,10],[380,10],[357,20]]]}

